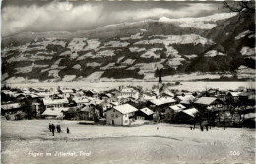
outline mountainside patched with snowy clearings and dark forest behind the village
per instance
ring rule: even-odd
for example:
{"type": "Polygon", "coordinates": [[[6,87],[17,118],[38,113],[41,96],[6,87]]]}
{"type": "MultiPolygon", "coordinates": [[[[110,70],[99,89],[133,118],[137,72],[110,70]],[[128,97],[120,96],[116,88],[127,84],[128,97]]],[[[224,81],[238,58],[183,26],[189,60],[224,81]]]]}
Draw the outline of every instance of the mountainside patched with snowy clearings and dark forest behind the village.
{"type": "MultiPolygon", "coordinates": [[[[254,16],[253,16],[254,17],[254,16]]],[[[2,81],[155,78],[193,72],[254,78],[254,19],[234,13],[145,20],[77,32],[26,32],[3,38],[2,81]],[[242,25],[242,26],[241,26],[242,25]]]]}

